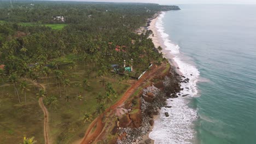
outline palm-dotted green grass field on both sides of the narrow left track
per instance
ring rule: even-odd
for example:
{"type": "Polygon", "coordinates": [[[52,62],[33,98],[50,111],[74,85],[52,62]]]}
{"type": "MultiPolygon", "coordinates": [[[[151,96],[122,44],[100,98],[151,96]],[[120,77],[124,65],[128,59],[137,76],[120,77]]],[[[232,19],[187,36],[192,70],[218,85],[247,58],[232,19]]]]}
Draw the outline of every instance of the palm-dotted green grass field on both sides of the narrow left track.
{"type": "MultiPolygon", "coordinates": [[[[63,58],[62,58],[63,59],[63,58]]],[[[72,60],[67,58],[67,61],[72,60]]],[[[49,79],[41,77],[39,83],[46,87],[44,104],[49,111],[49,137],[53,143],[72,143],[84,136],[86,128],[90,122],[84,123],[84,113],[90,113],[92,119],[97,117],[96,107],[98,105],[96,96],[98,93],[105,94],[105,89],[100,82],[103,78],[106,83],[109,82],[117,92],[117,98],[113,98],[111,104],[115,103],[121,95],[130,87],[129,83],[121,82],[119,75],[107,74],[103,78],[96,77],[97,70],[92,71],[89,77],[86,74],[92,65],[84,66],[78,63],[77,69],[69,69],[68,65],[61,67],[66,71],[66,79],[70,80],[67,87],[69,99],[66,100],[66,91],[61,86],[61,94],[56,85],[54,75],[50,75],[49,79]],[[84,91],[82,81],[88,79],[89,87],[84,91]],[[57,105],[51,109],[50,105],[46,105],[46,98],[54,95],[57,98],[57,105]],[[77,99],[77,95],[82,95],[82,100],[77,99]]],[[[27,92],[27,106],[25,106],[24,94],[18,89],[22,104],[19,104],[17,96],[14,94],[14,87],[7,82],[5,77],[5,86],[1,86],[0,82],[0,141],[3,143],[22,143],[24,136],[35,137],[38,143],[44,143],[43,123],[44,114],[38,105],[37,93],[38,89],[32,85],[27,92]]],[[[19,82],[17,83],[19,87],[19,82]]],[[[106,108],[110,104],[106,105],[106,108]]]]}

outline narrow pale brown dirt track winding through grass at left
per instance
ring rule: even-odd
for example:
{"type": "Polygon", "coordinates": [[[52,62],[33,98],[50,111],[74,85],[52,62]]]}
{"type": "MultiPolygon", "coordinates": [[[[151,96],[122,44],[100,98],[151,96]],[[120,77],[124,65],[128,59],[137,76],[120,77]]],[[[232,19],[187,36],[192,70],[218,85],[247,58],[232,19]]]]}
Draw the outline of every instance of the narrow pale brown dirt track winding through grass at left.
{"type": "MultiPolygon", "coordinates": [[[[30,79],[26,79],[26,78],[24,80],[31,82],[34,86],[42,88],[43,91],[45,91],[45,89],[46,89],[45,86],[40,83],[34,82],[34,81],[32,81],[30,79]]],[[[46,109],[46,107],[44,106],[42,97],[39,98],[38,103],[39,103],[39,106],[41,107],[42,111],[44,112],[44,141],[45,141],[45,144],[50,144],[50,140],[49,140],[49,136],[48,136],[48,134],[49,134],[49,124],[48,124],[49,113],[48,113],[48,110],[46,109]]]]}

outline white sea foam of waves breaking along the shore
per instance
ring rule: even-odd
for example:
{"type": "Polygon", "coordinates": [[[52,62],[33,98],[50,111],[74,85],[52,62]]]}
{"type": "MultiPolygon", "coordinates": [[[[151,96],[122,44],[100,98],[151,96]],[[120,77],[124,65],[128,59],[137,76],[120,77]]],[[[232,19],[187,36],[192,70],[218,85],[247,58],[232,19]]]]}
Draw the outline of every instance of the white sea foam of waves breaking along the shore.
{"type": "MultiPolygon", "coordinates": [[[[165,33],[162,18],[165,13],[159,16],[156,22],[156,28],[164,41],[165,50],[170,51],[174,56],[173,60],[177,63],[181,73],[189,79],[188,83],[181,83],[183,91],[176,99],[168,99],[167,104],[172,106],[170,109],[162,108],[160,117],[156,119],[153,131],[149,134],[150,139],[154,139],[155,143],[192,143],[195,139],[196,131],[193,121],[197,118],[195,109],[188,106],[191,97],[197,94],[196,82],[199,79],[199,71],[192,64],[182,61],[182,54],[179,52],[180,47],[171,43],[169,35],[165,33]],[[182,95],[189,94],[186,97],[182,95]],[[165,112],[169,113],[169,117],[165,116],[165,112]]],[[[185,79],[185,78],[184,78],[185,79]]]]}

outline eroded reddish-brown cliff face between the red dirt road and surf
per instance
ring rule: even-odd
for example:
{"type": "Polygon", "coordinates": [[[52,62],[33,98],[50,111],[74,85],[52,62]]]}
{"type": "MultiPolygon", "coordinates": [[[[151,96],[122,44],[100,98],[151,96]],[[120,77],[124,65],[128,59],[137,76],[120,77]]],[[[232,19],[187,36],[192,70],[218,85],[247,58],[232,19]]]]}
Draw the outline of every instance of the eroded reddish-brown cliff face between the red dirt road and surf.
{"type": "Polygon", "coordinates": [[[132,143],[142,139],[151,130],[154,115],[158,115],[158,110],[166,106],[166,99],[176,98],[176,93],[181,91],[180,81],[180,76],[169,69],[155,76],[137,95],[120,107],[117,110],[116,143],[132,143]]]}

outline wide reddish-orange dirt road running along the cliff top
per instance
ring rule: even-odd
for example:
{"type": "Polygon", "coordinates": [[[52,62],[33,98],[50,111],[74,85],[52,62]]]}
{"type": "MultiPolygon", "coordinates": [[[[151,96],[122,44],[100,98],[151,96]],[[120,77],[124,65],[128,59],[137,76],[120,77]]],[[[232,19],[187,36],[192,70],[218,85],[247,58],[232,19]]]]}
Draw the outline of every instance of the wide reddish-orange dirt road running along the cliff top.
{"type": "MultiPolygon", "coordinates": [[[[127,91],[124,93],[124,95],[121,97],[120,100],[118,100],[114,105],[110,106],[104,113],[115,110],[117,107],[120,107],[124,104],[124,102],[136,91],[136,89],[139,86],[142,86],[144,82],[151,79],[154,74],[156,74],[157,71],[163,70],[165,67],[161,65],[160,67],[152,67],[150,71],[148,71],[146,74],[144,74],[141,79],[139,79],[134,85],[132,85],[127,91]]],[[[103,113],[103,115],[104,115],[103,113]]],[[[94,119],[92,123],[89,125],[88,129],[86,130],[86,133],[83,137],[83,140],[80,142],[80,144],[88,144],[95,141],[96,137],[98,137],[101,134],[101,131],[104,128],[104,124],[101,121],[100,116],[94,119]],[[97,124],[97,125],[96,125],[97,124]],[[94,131],[92,131],[92,128],[96,127],[94,131]]]]}

